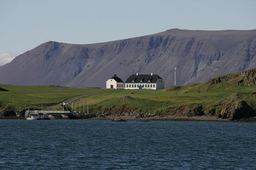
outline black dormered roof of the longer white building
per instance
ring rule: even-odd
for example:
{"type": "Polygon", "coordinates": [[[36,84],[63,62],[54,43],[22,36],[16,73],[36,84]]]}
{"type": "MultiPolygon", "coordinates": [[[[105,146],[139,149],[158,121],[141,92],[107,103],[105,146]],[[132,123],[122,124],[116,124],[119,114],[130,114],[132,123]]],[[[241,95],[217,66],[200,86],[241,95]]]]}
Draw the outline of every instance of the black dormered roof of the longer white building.
{"type": "Polygon", "coordinates": [[[158,79],[162,78],[157,74],[132,74],[126,80],[126,83],[156,83],[158,79]],[[142,80],[142,82],[140,80],[142,80]],[[150,80],[150,82],[148,80],[150,80]]]}

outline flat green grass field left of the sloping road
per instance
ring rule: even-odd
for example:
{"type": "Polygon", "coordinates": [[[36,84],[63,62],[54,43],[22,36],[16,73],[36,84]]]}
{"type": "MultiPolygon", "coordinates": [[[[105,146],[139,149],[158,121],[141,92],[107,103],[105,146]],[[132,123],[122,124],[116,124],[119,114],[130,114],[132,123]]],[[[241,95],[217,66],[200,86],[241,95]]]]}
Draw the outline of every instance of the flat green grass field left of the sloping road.
{"type": "Polygon", "coordinates": [[[0,109],[15,107],[16,110],[38,108],[58,104],[66,98],[102,91],[101,89],[79,89],[58,86],[17,86],[3,85],[1,88],[9,91],[0,91],[0,109]],[[13,103],[12,103],[13,99],[13,103]]]}

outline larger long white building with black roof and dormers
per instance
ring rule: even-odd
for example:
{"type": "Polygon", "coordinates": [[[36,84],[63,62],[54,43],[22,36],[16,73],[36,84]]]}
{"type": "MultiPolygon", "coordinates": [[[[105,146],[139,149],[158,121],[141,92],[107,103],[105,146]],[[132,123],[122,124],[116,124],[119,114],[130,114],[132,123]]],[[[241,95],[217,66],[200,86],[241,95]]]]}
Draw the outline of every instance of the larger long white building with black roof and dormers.
{"type": "Polygon", "coordinates": [[[125,89],[162,89],[164,80],[157,74],[133,74],[126,80],[125,89]]]}

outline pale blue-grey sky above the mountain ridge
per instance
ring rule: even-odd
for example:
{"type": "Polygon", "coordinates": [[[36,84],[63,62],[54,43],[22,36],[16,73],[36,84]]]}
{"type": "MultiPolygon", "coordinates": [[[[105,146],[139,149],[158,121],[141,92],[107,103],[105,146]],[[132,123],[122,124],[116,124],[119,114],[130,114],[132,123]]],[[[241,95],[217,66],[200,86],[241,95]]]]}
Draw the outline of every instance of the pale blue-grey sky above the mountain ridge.
{"type": "Polygon", "coordinates": [[[167,29],[256,29],[255,0],[0,0],[0,66],[47,41],[92,44],[167,29]]]}

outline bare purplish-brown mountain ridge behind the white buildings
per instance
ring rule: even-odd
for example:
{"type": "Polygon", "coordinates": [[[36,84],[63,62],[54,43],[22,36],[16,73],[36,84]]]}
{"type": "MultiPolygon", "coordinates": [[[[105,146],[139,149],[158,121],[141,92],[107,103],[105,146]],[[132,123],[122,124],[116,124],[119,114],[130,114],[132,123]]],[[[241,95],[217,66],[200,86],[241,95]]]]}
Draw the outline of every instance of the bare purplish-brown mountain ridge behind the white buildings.
{"type": "Polygon", "coordinates": [[[256,68],[256,29],[162,33],[98,44],[46,42],[0,66],[0,83],[105,87],[117,74],[159,74],[166,87],[256,68]]]}

